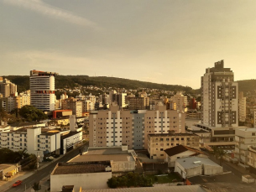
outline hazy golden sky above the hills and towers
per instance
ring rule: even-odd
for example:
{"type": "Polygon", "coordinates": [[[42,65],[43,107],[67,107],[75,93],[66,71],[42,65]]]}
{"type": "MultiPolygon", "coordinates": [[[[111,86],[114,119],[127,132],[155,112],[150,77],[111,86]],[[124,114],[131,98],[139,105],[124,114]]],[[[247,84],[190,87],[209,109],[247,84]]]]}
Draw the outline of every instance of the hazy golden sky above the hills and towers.
{"type": "Polygon", "coordinates": [[[29,70],[199,88],[255,79],[255,0],[0,0],[0,75],[29,70]]]}

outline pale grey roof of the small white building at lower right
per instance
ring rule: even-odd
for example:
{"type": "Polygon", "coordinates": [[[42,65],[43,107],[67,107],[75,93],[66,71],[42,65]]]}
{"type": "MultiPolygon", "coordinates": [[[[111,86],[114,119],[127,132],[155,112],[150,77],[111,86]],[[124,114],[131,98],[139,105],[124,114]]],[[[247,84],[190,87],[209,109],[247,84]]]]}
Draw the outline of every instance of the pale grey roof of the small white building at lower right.
{"type": "Polygon", "coordinates": [[[201,166],[201,164],[220,167],[220,165],[218,165],[217,163],[214,163],[209,158],[198,158],[198,157],[178,158],[176,162],[180,163],[180,165],[185,169],[196,168],[198,166],[201,166]]]}

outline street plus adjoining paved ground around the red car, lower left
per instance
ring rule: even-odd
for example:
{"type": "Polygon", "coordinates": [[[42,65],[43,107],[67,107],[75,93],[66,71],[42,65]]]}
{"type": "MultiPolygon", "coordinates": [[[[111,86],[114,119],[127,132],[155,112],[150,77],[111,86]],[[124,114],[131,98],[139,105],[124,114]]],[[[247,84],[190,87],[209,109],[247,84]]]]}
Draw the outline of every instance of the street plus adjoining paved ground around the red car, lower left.
{"type": "MultiPolygon", "coordinates": [[[[3,184],[2,186],[0,186],[0,191],[1,192],[3,192],[3,191],[7,191],[7,192],[31,191],[31,186],[34,184],[34,182],[40,182],[40,184],[43,182],[43,184],[41,184],[41,185],[44,186],[45,189],[48,189],[49,186],[45,187],[45,182],[46,182],[46,185],[48,185],[47,180],[48,180],[48,178],[50,179],[50,173],[55,168],[56,164],[59,162],[67,162],[71,158],[76,157],[76,155],[78,155],[80,152],[80,148],[84,148],[86,145],[87,145],[87,143],[84,146],[73,149],[71,152],[69,152],[63,156],[60,156],[60,158],[56,158],[54,160],[54,162],[44,163],[44,166],[41,166],[41,168],[39,168],[38,170],[29,172],[29,173],[23,174],[23,175],[17,174],[17,176],[15,178],[13,178],[12,180],[9,179],[8,182],[6,182],[6,184],[3,184]],[[45,179],[46,179],[46,181],[45,181],[45,179]],[[23,184],[19,185],[16,188],[12,188],[12,184],[16,180],[23,180],[23,184]]],[[[42,188],[40,191],[45,191],[45,189],[43,190],[43,188],[42,188]]]]}

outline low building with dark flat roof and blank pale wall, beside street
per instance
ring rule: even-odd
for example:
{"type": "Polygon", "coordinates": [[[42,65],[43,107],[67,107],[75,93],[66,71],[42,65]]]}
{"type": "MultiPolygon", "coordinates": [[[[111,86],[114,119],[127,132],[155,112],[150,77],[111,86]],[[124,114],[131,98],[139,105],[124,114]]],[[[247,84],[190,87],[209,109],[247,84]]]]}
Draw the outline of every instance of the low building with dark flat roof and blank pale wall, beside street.
{"type": "Polygon", "coordinates": [[[81,189],[107,189],[107,180],[112,178],[108,161],[91,163],[58,163],[50,174],[50,191],[59,192],[64,185],[81,189]]]}

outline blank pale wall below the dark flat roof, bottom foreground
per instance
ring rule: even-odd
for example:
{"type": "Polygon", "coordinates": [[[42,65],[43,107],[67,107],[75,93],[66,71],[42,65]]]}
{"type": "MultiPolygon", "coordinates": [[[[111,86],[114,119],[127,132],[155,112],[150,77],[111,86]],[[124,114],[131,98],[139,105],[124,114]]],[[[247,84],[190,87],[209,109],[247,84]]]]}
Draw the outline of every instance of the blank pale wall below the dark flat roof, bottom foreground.
{"type": "Polygon", "coordinates": [[[82,189],[107,189],[107,179],[112,172],[90,174],[55,174],[50,175],[50,191],[61,191],[63,185],[74,185],[75,191],[82,189]]]}

